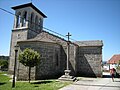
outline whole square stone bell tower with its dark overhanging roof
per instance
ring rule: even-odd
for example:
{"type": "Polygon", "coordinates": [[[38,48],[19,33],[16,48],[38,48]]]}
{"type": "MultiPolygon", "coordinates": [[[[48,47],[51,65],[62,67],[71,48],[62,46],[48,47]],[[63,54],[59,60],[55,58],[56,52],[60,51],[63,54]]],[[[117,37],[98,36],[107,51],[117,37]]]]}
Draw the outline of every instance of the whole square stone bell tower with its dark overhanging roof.
{"type": "Polygon", "coordinates": [[[14,46],[18,41],[34,38],[43,29],[43,19],[47,18],[32,3],[12,7],[15,10],[14,25],[11,34],[9,71],[13,71],[14,46]]]}

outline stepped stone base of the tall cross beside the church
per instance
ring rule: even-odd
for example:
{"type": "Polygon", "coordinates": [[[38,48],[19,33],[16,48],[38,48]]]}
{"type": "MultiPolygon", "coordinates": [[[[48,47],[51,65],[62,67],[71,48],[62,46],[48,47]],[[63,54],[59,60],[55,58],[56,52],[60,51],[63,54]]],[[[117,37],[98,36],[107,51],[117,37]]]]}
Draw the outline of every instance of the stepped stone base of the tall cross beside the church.
{"type": "Polygon", "coordinates": [[[65,70],[65,75],[62,75],[60,78],[58,78],[58,80],[61,80],[61,81],[75,81],[76,77],[70,76],[69,73],[70,73],[70,70],[65,70]]]}

